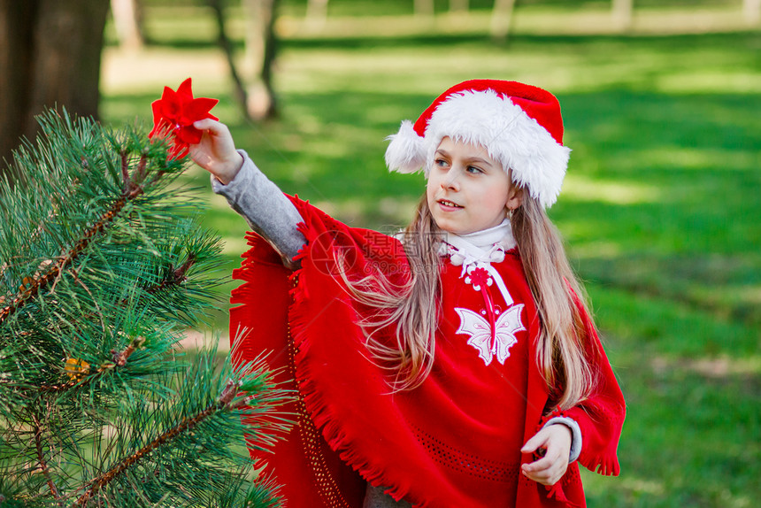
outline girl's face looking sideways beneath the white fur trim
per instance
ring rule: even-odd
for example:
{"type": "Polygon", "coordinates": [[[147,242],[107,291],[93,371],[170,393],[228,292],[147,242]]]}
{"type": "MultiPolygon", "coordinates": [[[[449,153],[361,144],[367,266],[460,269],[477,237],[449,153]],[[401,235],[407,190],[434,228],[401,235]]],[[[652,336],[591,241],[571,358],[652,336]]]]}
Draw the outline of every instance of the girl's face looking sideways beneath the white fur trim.
{"type": "Polygon", "coordinates": [[[497,226],[522,196],[485,148],[450,137],[436,149],[426,189],[436,225],[456,235],[497,226]]]}

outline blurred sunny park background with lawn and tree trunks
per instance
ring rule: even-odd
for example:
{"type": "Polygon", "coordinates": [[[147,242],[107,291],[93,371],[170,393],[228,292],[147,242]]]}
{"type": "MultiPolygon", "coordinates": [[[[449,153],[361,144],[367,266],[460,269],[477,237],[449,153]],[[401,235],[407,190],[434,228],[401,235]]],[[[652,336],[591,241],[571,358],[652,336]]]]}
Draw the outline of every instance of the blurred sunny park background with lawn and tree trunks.
{"type": "MultiPolygon", "coordinates": [[[[761,0],[0,0],[0,157],[43,104],[147,129],[192,77],[281,189],[393,231],[425,185],[386,171],[402,119],[466,79],[549,89],[573,149],[550,217],[628,404],[621,476],[585,473],[588,504],[757,506],[759,28],[761,0]]],[[[185,182],[231,272],[245,222],[185,182]]]]}

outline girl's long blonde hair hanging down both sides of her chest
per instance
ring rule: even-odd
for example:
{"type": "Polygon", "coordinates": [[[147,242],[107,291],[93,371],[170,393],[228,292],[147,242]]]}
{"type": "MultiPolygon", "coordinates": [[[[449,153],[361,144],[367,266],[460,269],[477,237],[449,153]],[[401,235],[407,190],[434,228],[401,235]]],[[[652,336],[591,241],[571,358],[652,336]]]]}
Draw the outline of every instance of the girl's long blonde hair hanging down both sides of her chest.
{"type": "MultiPolygon", "coordinates": [[[[589,336],[582,312],[588,313],[585,294],[565,256],[565,250],[541,204],[528,192],[511,218],[541,322],[536,362],[550,387],[553,404],[567,409],[579,404],[595,385],[590,368],[596,341],[589,336]]],[[[358,303],[376,312],[360,321],[374,360],[394,373],[393,389],[413,389],[425,381],[434,364],[435,333],[441,301],[441,230],[436,226],[424,194],[411,224],[404,230],[404,250],[410,277],[394,284],[382,273],[351,281],[340,271],[345,287],[358,303]],[[378,339],[381,328],[396,325],[396,344],[378,339]]],[[[342,266],[342,263],[339,263],[342,266]]],[[[589,326],[591,319],[588,321],[589,326]]]]}

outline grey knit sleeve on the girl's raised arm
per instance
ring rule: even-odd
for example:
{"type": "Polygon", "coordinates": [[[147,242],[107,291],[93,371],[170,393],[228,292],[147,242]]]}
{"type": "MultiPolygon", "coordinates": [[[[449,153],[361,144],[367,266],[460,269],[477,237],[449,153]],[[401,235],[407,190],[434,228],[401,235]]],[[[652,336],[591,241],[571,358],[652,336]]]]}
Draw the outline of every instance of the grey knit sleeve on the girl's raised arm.
{"type": "Polygon", "coordinates": [[[297,228],[302,217],[281,189],[270,181],[243,150],[241,171],[223,184],[211,175],[211,189],[227,198],[227,203],[240,213],[251,229],[265,237],[281,254],[286,266],[295,267],[293,258],[304,247],[306,239],[297,228]]]}

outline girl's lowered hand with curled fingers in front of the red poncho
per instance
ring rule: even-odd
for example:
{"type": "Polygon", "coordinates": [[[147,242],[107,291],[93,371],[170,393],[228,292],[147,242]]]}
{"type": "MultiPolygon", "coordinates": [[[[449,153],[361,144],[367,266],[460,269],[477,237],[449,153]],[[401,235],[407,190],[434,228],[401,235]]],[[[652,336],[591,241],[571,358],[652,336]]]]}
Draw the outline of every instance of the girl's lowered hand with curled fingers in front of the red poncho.
{"type": "Polygon", "coordinates": [[[571,429],[565,425],[555,424],[542,428],[520,451],[534,453],[536,450],[544,450],[544,456],[531,464],[520,466],[521,472],[542,485],[554,485],[568,468],[572,438],[571,429]]]}

